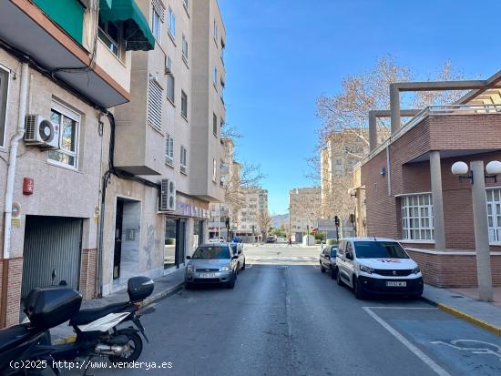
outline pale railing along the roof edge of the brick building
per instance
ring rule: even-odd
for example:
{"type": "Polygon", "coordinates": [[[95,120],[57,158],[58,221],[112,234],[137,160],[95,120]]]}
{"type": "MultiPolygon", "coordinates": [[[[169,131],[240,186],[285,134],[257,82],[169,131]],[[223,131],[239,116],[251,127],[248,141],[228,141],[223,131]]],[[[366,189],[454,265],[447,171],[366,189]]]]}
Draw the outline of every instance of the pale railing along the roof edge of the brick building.
{"type": "Polygon", "coordinates": [[[385,147],[390,145],[398,138],[417,126],[425,117],[432,116],[449,116],[449,115],[483,115],[483,114],[500,114],[501,105],[492,104],[476,104],[476,105],[445,105],[445,106],[428,106],[417,113],[415,117],[410,119],[402,127],[388,137],[381,145],[374,148],[365,158],[353,166],[353,170],[363,166],[365,162],[377,156],[385,147]]]}

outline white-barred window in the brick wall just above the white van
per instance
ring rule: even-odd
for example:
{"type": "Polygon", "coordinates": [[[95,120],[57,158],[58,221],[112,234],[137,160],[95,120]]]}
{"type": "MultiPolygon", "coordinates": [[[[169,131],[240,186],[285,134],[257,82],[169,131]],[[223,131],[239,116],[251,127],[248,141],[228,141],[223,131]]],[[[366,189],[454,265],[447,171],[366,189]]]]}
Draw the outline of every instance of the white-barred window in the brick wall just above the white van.
{"type": "Polygon", "coordinates": [[[402,198],[402,232],[406,240],[435,239],[431,194],[402,198]]]}

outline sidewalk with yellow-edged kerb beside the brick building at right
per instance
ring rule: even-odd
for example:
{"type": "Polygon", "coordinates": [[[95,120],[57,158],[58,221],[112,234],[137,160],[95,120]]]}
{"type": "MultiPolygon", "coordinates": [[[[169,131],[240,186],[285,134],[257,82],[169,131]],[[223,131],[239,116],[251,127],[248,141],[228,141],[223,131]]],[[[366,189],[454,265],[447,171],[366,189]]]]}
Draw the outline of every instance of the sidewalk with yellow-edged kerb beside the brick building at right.
{"type": "MultiPolygon", "coordinates": [[[[495,298],[501,297],[500,288],[496,288],[495,298]]],[[[501,306],[499,301],[486,303],[475,299],[475,292],[463,290],[445,290],[424,285],[424,300],[440,310],[467,320],[486,330],[501,336],[501,306]],[[470,295],[470,296],[468,296],[470,295]]]]}

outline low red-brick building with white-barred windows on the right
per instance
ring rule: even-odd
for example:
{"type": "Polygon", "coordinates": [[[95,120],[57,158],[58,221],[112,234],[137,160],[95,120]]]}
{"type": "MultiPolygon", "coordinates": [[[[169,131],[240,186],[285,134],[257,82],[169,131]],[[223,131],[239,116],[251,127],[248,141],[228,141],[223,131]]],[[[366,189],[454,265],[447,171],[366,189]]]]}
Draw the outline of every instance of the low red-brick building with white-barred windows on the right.
{"type": "MultiPolygon", "coordinates": [[[[365,191],[367,234],[399,239],[425,282],[438,287],[477,285],[476,256],[483,250],[475,247],[475,232],[485,229],[475,229],[480,222],[474,223],[472,187],[479,183],[458,178],[451,168],[457,161],[486,166],[501,159],[500,76],[459,83],[458,88],[475,89],[454,105],[426,107],[405,124],[394,105],[392,137],[372,142],[360,165],[355,188],[365,191]]],[[[433,89],[435,83],[413,85],[433,89]]],[[[496,179],[483,175],[490,277],[501,286],[501,189],[496,179]]]]}

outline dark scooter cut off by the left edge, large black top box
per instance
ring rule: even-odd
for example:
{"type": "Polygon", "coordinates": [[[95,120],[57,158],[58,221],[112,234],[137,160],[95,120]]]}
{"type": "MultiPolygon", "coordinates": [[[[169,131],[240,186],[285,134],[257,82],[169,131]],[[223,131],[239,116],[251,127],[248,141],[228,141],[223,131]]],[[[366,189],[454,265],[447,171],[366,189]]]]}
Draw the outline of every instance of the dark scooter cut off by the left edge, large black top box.
{"type": "Polygon", "coordinates": [[[50,351],[40,352],[38,344],[44,340],[47,330],[75,316],[80,309],[82,295],[66,287],[36,288],[25,301],[28,322],[0,330],[0,374],[39,375],[53,363],[34,360],[48,357],[50,351]],[[43,356],[42,356],[43,355],[43,356]]]}

